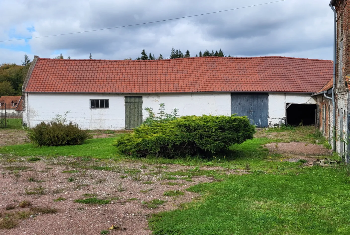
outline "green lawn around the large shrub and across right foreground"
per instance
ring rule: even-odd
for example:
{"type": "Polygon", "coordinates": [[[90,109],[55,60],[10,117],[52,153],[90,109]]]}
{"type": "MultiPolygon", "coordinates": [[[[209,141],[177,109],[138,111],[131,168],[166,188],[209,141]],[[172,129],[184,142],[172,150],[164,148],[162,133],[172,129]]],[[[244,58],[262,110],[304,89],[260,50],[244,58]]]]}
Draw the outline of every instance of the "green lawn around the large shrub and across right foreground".
{"type": "MultiPolygon", "coordinates": [[[[300,135],[302,141],[314,141],[310,136],[311,129],[303,131],[304,136],[298,131],[293,133],[295,137],[300,135]]],[[[285,138],[289,132],[292,131],[285,132],[285,138]]],[[[262,134],[268,136],[269,133],[262,134]]],[[[212,159],[136,159],[118,153],[112,146],[115,138],[89,139],[77,146],[12,145],[1,147],[0,154],[5,157],[12,154],[11,158],[72,156],[177,163],[193,167],[188,172],[170,172],[165,177],[206,174],[222,180],[190,187],[188,191],[200,193],[202,197],[182,204],[180,209],[149,217],[149,227],[158,235],[350,234],[350,178],[346,167],[305,168],[301,167],[302,163],[281,161],[282,155],[271,154],[261,146],[288,141],[285,138],[278,135],[275,139],[254,138],[231,146],[230,155],[212,159]],[[250,169],[250,174],[227,177],[219,171],[196,167],[205,165],[250,169]]]]}

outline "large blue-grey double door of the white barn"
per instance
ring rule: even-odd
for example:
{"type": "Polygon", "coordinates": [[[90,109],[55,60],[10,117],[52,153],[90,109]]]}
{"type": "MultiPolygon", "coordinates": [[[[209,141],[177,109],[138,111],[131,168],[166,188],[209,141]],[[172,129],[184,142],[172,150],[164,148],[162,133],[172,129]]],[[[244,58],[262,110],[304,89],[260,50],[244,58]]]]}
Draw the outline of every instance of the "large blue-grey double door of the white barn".
{"type": "Polygon", "coordinates": [[[257,127],[268,127],[268,93],[231,93],[231,113],[247,116],[257,127]]]}

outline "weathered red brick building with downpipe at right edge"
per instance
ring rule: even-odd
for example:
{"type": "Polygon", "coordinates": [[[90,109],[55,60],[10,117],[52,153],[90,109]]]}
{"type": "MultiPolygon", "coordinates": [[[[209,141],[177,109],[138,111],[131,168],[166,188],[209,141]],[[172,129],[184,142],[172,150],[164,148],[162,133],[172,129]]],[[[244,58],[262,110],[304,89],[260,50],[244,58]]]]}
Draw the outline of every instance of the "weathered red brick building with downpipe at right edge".
{"type": "Polygon", "coordinates": [[[350,0],[331,0],[334,11],[334,82],[330,81],[313,96],[317,100],[318,126],[333,149],[350,162],[350,0]],[[333,94],[332,94],[333,93],[333,94]],[[334,100],[330,98],[333,97],[334,100]],[[334,112],[333,112],[334,110],[334,112]],[[333,115],[335,113],[335,115],[333,115]],[[334,120],[334,122],[333,122],[334,120]],[[333,130],[334,125],[334,130],[333,130]],[[331,133],[330,133],[331,132],[331,133]],[[335,143],[335,146],[334,146],[335,143]]]}

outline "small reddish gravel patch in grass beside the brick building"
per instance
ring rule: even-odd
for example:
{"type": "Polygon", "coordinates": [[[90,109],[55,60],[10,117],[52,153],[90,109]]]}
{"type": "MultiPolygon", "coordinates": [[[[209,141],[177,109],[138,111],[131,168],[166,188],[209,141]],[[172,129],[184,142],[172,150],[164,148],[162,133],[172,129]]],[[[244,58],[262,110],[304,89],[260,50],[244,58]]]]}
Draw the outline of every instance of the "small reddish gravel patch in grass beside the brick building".
{"type": "Polygon", "coordinates": [[[330,155],[331,150],[323,147],[323,145],[308,144],[304,142],[290,142],[290,143],[269,143],[265,145],[270,152],[276,153],[290,153],[290,154],[302,154],[302,155],[330,155]]]}

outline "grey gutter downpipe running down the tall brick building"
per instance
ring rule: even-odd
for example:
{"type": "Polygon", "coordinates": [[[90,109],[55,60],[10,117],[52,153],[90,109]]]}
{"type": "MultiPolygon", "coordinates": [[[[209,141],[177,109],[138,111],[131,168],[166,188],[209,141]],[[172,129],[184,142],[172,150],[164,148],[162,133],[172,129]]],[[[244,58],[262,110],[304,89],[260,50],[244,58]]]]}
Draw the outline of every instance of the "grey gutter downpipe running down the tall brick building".
{"type": "MultiPolygon", "coordinates": [[[[333,104],[333,151],[336,151],[336,128],[335,128],[335,118],[336,118],[336,109],[335,109],[335,62],[336,62],[336,39],[337,39],[337,12],[333,5],[329,5],[330,8],[332,8],[332,11],[334,12],[334,35],[333,35],[333,88],[332,88],[332,104],[333,104]]],[[[325,94],[324,94],[325,96],[325,94]]]]}

